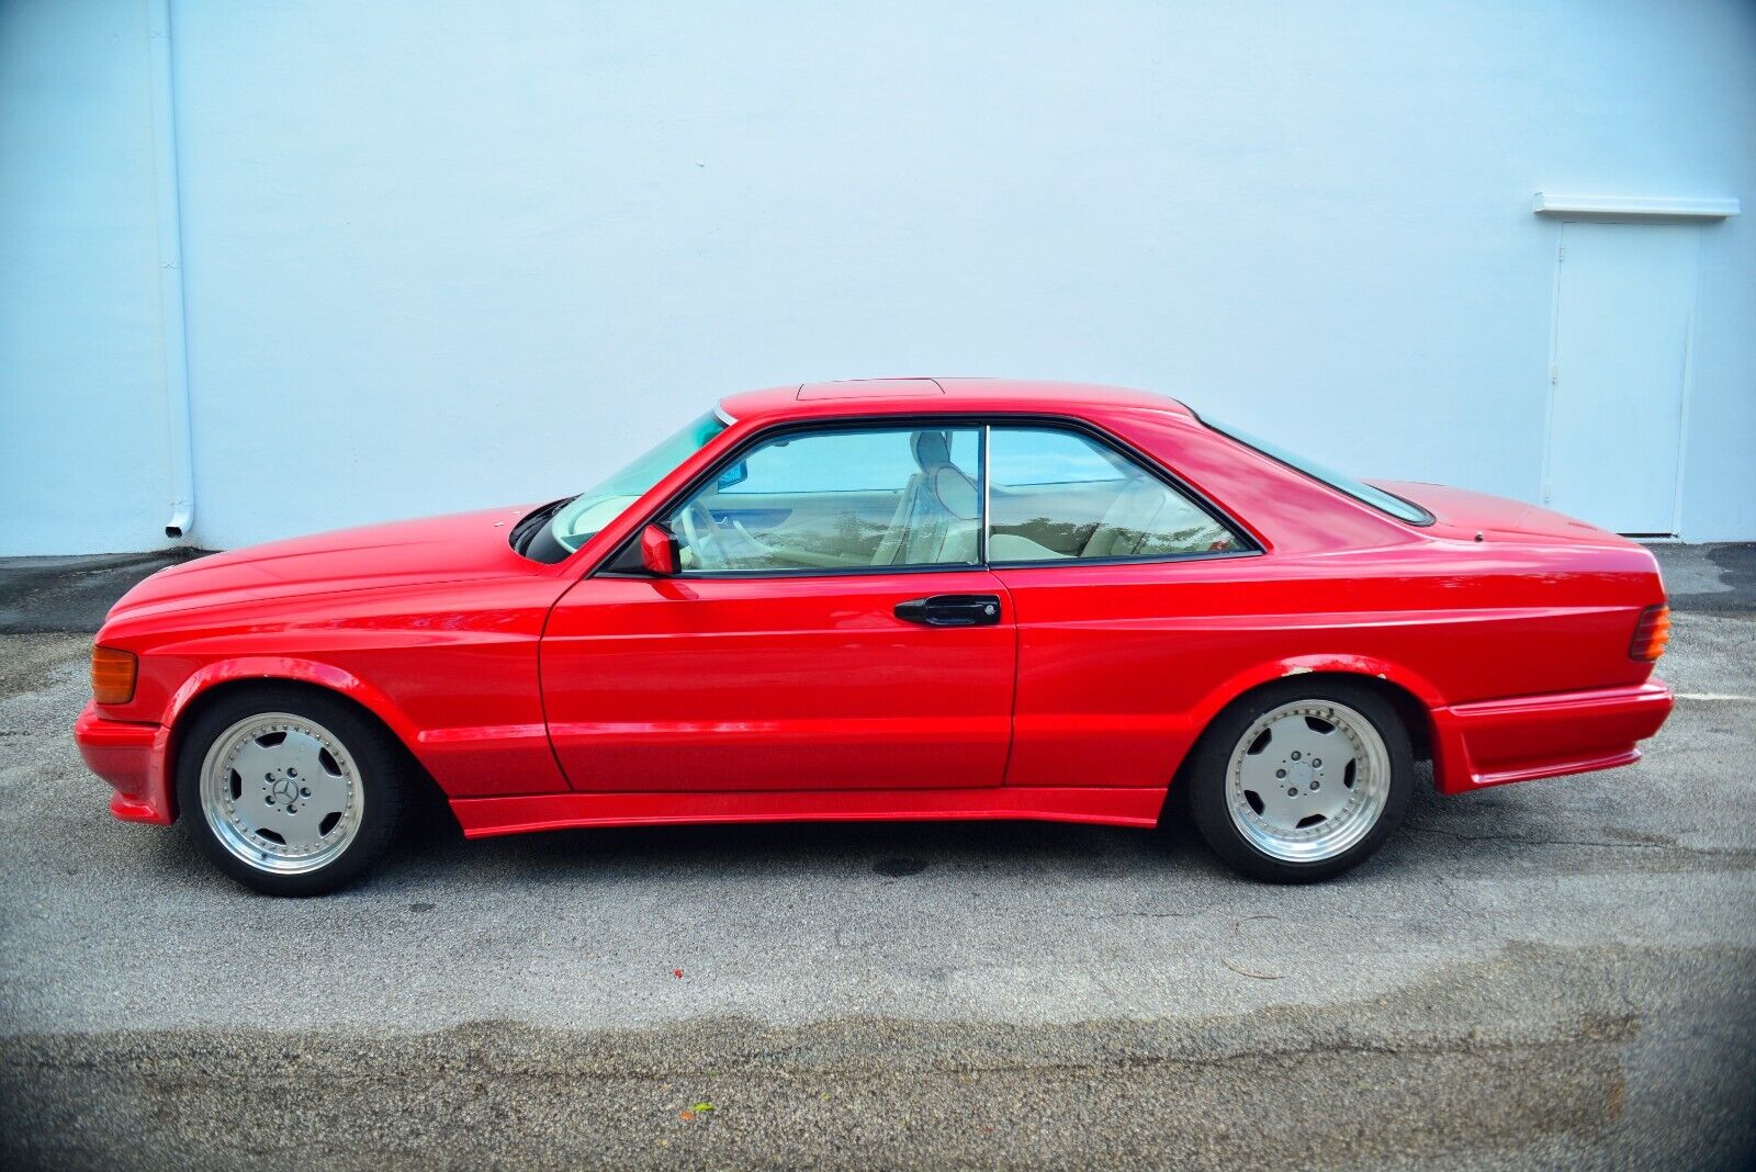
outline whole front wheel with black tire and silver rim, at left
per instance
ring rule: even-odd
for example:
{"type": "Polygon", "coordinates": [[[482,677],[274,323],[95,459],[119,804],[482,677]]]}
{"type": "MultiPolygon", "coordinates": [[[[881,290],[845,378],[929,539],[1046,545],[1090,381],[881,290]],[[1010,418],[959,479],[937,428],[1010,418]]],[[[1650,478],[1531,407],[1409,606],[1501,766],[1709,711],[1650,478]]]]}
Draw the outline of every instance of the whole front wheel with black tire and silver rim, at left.
{"type": "Polygon", "coordinates": [[[177,804],[202,851],[269,895],[321,895],[385,853],[402,812],[397,754],[344,700],[265,686],[190,726],[177,804]]]}

